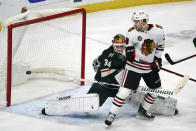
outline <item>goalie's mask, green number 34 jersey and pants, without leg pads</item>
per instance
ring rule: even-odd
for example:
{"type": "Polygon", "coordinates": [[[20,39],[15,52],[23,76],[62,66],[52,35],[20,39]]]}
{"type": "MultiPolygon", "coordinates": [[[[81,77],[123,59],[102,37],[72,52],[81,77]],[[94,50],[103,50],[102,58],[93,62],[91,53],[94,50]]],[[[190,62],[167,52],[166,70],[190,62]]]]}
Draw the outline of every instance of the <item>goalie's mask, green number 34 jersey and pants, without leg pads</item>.
{"type": "Polygon", "coordinates": [[[112,45],[93,61],[95,80],[98,82],[91,86],[88,94],[99,94],[99,106],[102,106],[108,97],[115,97],[118,92],[119,86],[114,86],[118,84],[115,75],[125,67],[125,45],[126,37],[117,34],[112,40],[112,45]]]}

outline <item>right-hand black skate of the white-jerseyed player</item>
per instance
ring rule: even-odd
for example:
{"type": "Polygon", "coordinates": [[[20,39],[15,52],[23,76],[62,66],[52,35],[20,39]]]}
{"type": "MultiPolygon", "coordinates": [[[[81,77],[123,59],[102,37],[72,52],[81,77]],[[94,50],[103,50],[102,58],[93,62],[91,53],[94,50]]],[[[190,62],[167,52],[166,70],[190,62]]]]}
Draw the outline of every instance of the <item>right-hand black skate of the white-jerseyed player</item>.
{"type": "Polygon", "coordinates": [[[155,116],[150,112],[147,112],[141,105],[139,107],[138,113],[136,115],[136,119],[141,120],[154,120],[155,116]]]}

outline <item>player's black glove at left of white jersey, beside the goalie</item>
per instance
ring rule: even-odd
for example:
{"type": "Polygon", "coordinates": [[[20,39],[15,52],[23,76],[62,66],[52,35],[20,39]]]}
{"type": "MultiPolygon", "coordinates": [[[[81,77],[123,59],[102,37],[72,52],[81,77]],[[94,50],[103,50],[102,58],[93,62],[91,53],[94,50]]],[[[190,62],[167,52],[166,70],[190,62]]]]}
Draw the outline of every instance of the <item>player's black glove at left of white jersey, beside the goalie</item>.
{"type": "Polygon", "coordinates": [[[126,58],[128,61],[133,62],[135,60],[135,47],[128,46],[125,50],[126,58]]]}

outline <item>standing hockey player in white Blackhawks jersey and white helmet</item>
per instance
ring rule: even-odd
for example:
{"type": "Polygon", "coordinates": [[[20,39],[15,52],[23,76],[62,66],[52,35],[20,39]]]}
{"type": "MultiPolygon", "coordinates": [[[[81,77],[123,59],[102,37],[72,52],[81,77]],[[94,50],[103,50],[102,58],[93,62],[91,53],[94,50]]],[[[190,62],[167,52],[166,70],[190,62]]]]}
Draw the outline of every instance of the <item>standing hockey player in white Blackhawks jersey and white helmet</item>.
{"type": "MultiPolygon", "coordinates": [[[[132,14],[134,26],[128,30],[129,43],[126,47],[127,63],[122,76],[120,89],[113,100],[110,112],[105,120],[111,125],[119,113],[129,94],[139,86],[141,78],[151,89],[160,89],[161,80],[159,70],[162,63],[162,53],[165,47],[165,37],[161,26],[148,24],[148,14],[144,11],[135,11],[132,14]]],[[[147,93],[139,106],[136,118],[154,119],[149,112],[158,95],[147,93]]]]}

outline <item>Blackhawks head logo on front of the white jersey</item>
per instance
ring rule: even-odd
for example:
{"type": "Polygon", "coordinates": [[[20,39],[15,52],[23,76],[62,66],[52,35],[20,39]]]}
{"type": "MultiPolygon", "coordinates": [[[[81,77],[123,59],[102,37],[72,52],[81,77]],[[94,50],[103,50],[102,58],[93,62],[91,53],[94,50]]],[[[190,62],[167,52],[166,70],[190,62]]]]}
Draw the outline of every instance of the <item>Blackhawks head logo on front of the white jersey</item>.
{"type": "Polygon", "coordinates": [[[141,52],[145,56],[151,54],[154,49],[156,48],[156,44],[154,43],[153,40],[146,39],[144,40],[144,43],[142,44],[141,52]]]}

